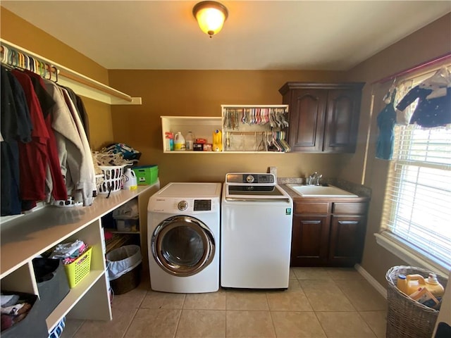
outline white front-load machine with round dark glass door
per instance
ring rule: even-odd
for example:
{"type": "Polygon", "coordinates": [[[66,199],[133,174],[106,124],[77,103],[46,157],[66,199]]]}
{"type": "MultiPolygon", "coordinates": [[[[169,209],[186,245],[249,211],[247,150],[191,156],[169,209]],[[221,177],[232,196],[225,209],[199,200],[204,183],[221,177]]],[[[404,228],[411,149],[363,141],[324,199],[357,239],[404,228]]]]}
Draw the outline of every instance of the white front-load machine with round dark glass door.
{"type": "Polygon", "coordinates": [[[219,289],[221,183],[171,182],[149,199],[147,236],[152,290],[219,289]]]}

